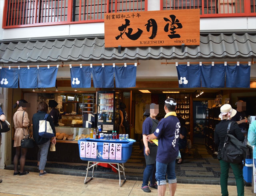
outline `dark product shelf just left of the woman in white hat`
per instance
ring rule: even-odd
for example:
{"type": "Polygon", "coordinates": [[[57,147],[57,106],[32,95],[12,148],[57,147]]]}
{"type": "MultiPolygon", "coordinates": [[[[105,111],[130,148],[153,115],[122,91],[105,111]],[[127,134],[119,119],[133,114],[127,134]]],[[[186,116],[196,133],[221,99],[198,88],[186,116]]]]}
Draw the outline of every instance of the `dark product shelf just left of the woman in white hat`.
{"type": "Polygon", "coordinates": [[[205,120],[205,145],[212,151],[218,151],[218,147],[214,143],[215,126],[220,122],[220,108],[207,108],[205,120]]]}

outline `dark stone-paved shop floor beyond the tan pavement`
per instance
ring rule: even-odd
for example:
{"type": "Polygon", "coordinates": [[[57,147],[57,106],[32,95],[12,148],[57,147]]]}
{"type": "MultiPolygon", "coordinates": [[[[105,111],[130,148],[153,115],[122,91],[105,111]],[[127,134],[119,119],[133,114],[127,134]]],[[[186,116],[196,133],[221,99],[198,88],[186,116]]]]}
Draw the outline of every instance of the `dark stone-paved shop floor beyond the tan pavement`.
{"type": "MultiPolygon", "coordinates": [[[[193,184],[220,184],[220,164],[214,155],[206,149],[204,144],[194,144],[192,146],[192,155],[182,154],[183,163],[176,165],[176,177],[178,183],[193,184]]],[[[127,180],[142,181],[143,170],[145,168],[145,159],[139,143],[133,144],[133,151],[130,159],[124,163],[125,176],[127,180]]],[[[36,162],[26,162],[27,171],[38,172],[36,162]]],[[[65,165],[57,163],[47,163],[45,170],[53,174],[66,174],[86,176],[87,164],[82,165],[65,165]]],[[[6,169],[13,169],[13,165],[8,165],[6,169]]],[[[89,170],[88,176],[92,176],[92,169],[89,170]]],[[[120,174],[124,179],[123,173],[120,174]]],[[[94,177],[119,179],[119,175],[113,172],[111,168],[96,166],[94,177]]],[[[229,170],[229,185],[235,185],[235,178],[232,169],[229,170]]]]}

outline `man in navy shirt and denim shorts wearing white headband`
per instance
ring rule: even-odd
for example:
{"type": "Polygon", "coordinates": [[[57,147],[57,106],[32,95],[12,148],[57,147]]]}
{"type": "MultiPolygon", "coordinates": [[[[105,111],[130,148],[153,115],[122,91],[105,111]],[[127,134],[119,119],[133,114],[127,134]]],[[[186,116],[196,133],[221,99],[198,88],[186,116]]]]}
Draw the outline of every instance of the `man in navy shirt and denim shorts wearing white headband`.
{"type": "Polygon", "coordinates": [[[178,140],[180,136],[180,121],[176,117],[176,101],[173,98],[165,100],[165,117],[159,122],[154,133],[147,136],[151,141],[158,138],[158,150],[156,156],[156,180],[158,183],[158,195],[164,195],[166,191],[166,174],[170,189],[170,195],[174,195],[177,186],[175,174],[175,160],[179,153],[178,140]]]}

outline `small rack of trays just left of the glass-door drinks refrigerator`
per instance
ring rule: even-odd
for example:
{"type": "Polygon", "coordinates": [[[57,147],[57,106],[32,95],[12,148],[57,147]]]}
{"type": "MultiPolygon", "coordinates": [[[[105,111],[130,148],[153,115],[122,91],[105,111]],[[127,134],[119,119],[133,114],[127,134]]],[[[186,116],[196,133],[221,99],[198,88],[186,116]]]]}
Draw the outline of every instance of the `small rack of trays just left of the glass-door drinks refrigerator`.
{"type": "Polygon", "coordinates": [[[95,100],[95,94],[83,94],[83,104],[80,106],[82,108],[82,114],[94,113],[95,100]]]}

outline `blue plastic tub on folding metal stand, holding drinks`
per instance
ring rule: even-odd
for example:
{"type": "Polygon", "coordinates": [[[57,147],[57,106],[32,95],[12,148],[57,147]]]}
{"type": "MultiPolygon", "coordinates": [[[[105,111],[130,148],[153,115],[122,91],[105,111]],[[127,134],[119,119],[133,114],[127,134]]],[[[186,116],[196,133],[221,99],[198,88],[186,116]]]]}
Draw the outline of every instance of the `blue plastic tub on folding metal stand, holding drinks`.
{"type": "Polygon", "coordinates": [[[130,159],[133,149],[134,141],[126,141],[126,140],[99,140],[99,139],[91,139],[85,138],[78,140],[79,146],[79,156],[83,161],[93,161],[93,162],[105,162],[105,163],[125,163],[128,159],[130,159]],[[81,157],[80,154],[80,143],[81,142],[97,142],[97,158],[85,158],[81,157]],[[121,143],[122,144],[122,158],[121,160],[111,160],[111,159],[102,159],[102,151],[103,151],[103,143],[121,143]]]}

